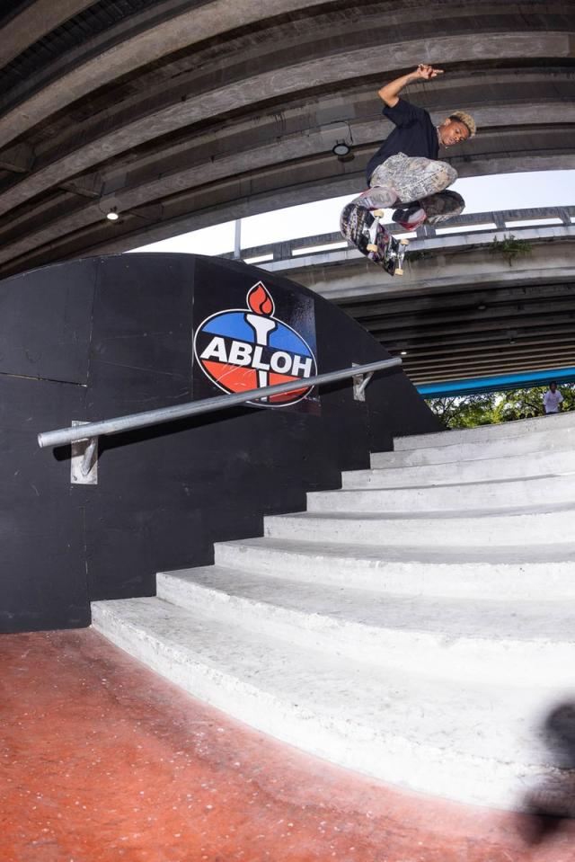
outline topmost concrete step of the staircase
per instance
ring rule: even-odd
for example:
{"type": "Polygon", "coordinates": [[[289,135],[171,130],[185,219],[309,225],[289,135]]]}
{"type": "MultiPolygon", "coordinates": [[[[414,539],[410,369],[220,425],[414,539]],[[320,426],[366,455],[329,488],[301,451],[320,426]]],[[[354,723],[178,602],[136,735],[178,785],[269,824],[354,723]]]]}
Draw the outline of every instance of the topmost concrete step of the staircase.
{"type": "Polygon", "coordinates": [[[575,425],[575,411],[557,413],[553,416],[536,416],[535,419],[521,419],[517,422],[500,422],[497,425],[480,425],[478,428],[463,428],[454,431],[437,431],[433,434],[411,434],[409,437],[395,437],[394,449],[419,449],[421,446],[450,446],[454,443],[496,440],[502,437],[517,437],[534,431],[551,428],[567,428],[575,425]]]}

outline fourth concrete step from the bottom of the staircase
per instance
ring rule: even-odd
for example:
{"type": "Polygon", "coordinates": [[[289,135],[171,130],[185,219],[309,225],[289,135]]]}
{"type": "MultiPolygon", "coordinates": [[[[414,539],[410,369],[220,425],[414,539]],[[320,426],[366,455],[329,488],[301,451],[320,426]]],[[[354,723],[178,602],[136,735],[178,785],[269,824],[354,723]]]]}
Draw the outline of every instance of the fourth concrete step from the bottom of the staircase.
{"type": "Polygon", "coordinates": [[[264,519],[270,538],[354,545],[464,547],[569,543],[575,504],[522,507],[505,514],[485,510],[426,512],[298,512],[264,519]]]}

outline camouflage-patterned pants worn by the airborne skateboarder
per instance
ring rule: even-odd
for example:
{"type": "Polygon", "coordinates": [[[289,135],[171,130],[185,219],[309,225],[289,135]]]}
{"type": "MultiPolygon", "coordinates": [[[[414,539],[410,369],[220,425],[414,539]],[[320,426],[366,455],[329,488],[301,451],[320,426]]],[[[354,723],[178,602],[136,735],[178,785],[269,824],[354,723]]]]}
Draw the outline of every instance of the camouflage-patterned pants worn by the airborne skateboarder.
{"type": "Polygon", "coordinates": [[[458,216],[464,209],[465,201],[460,194],[445,191],[456,179],[456,169],[447,162],[398,153],[377,165],[371,174],[370,188],[356,201],[367,209],[417,204],[425,209],[429,224],[436,225],[458,216]]]}

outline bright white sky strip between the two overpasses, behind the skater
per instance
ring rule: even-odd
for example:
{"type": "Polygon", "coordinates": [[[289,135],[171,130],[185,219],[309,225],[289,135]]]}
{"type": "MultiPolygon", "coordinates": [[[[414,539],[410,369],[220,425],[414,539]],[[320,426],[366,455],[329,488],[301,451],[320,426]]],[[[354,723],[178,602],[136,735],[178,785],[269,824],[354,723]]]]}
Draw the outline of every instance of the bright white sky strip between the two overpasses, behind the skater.
{"type": "MultiPolygon", "coordinates": [[[[499,173],[493,176],[457,180],[452,189],[463,195],[465,212],[491,212],[498,209],[564,207],[575,204],[575,171],[536,171],[499,173]]],[[[261,216],[242,219],[242,248],[277,243],[317,234],[339,231],[340,212],[355,194],[318,200],[288,209],[276,209],[261,216]]],[[[187,252],[224,254],[234,251],[234,221],[204,227],[188,234],[173,236],[159,243],[133,249],[135,252],[187,252]]]]}

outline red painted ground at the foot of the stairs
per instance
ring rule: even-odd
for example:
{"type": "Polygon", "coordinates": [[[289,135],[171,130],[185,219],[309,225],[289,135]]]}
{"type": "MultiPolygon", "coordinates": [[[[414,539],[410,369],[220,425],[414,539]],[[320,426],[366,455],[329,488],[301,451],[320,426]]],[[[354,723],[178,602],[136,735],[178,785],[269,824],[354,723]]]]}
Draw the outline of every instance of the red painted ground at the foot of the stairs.
{"type": "Polygon", "coordinates": [[[91,630],[0,639],[2,862],[575,862],[226,719],[91,630]]]}

